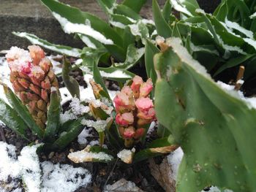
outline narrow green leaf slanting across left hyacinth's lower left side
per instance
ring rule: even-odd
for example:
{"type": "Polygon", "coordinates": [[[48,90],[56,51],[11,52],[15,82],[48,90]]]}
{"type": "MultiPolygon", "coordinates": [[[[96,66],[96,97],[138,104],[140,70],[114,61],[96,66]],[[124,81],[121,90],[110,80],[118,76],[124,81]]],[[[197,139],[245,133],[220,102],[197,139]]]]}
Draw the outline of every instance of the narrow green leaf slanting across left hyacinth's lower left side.
{"type": "Polygon", "coordinates": [[[4,85],[4,92],[7,96],[8,101],[12,105],[13,110],[15,110],[18,115],[20,115],[20,118],[24,120],[24,122],[27,126],[29,126],[31,131],[33,131],[34,134],[37,134],[37,136],[42,139],[44,132],[42,128],[39,128],[39,126],[37,126],[37,123],[29,114],[29,110],[26,108],[26,106],[21,103],[20,99],[18,99],[18,97],[15,96],[15,93],[13,93],[12,90],[6,85],[4,85]]]}

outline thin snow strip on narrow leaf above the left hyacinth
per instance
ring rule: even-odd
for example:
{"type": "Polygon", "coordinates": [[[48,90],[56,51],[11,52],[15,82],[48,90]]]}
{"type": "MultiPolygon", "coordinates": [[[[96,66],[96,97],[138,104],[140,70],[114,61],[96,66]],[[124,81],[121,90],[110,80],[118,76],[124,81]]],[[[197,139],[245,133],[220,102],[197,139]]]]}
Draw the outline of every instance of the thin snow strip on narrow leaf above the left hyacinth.
{"type": "Polygon", "coordinates": [[[72,48],[72,49],[67,49],[65,47],[55,47],[53,45],[48,45],[45,44],[44,42],[39,41],[38,37],[31,35],[31,34],[27,34],[25,32],[21,32],[21,33],[15,33],[18,37],[26,37],[26,39],[29,39],[29,41],[34,44],[34,45],[39,45],[42,47],[45,47],[49,50],[53,50],[56,51],[57,53],[61,52],[64,53],[65,55],[69,55],[75,58],[79,58],[80,57],[80,50],[76,49],[76,48],[72,48]]]}

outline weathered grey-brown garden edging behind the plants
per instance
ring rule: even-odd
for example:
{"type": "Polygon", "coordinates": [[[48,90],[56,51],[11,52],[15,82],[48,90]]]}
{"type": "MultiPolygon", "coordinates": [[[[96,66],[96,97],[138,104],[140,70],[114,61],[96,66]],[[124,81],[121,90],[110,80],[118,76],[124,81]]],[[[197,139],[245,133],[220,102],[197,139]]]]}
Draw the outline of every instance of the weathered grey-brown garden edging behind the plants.
{"type": "MultiPolygon", "coordinates": [[[[83,11],[91,12],[100,18],[107,18],[96,0],[60,1],[83,11]]],[[[159,4],[165,3],[165,0],[158,1],[159,4]]],[[[220,0],[198,1],[213,9],[220,0]]],[[[148,0],[141,11],[141,15],[143,18],[151,18],[151,12],[151,0],[148,0]]],[[[0,50],[9,49],[13,45],[23,48],[29,45],[26,39],[15,37],[12,31],[26,31],[56,44],[83,47],[83,42],[74,39],[73,35],[64,34],[59,23],[39,0],[0,0],[0,24],[0,50]]]]}

